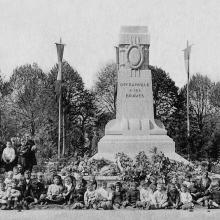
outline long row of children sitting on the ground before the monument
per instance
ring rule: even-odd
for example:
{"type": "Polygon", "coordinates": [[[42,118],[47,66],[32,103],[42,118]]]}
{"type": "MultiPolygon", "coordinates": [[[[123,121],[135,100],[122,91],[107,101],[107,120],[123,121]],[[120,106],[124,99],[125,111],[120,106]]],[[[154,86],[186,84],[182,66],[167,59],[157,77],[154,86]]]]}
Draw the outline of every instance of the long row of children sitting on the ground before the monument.
{"type": "Polygon", "coordinates": [[[140,182],[97,184],[95,177],[85,180],[82,175],[58,175],[53,172],[13,171],[0,180],[0,206],[2,210],[29,209],[50,204],[66,205],[71,209],[184,209],[195,205],[218,208],[220,183],[211,180],[208,172],[199,179],[190,173],[184,179],[173,176],[168,183],[147,176],[140,182]]]}

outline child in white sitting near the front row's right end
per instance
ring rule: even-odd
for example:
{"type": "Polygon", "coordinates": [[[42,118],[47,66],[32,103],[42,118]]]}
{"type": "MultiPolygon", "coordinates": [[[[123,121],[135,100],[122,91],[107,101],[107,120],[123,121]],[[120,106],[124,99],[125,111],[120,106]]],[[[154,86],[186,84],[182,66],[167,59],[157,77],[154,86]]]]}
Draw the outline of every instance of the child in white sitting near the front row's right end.
{"type": "Polygon", "coordinates": [[[192,209],[194,207],[194,204],[192,203],[192,196],[185,185],[181,185],[179,207],[183,210],[192,209]]]}

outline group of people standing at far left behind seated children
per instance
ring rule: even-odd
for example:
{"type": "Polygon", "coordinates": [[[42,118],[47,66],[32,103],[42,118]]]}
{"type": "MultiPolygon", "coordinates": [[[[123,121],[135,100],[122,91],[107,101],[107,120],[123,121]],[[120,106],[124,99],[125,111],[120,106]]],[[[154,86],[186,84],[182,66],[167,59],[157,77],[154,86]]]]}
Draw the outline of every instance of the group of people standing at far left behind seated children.
{"type": "Polygon", "coordinates": [[[31,139],[29,134],[22,138],[12,137],[1,149],[0,166],[6,172],[12,171],[13,167],[17,165],[21,166],[24,171],[32,171],[33,166],[37,164],[36,150],[35,141],[31,139]]]}

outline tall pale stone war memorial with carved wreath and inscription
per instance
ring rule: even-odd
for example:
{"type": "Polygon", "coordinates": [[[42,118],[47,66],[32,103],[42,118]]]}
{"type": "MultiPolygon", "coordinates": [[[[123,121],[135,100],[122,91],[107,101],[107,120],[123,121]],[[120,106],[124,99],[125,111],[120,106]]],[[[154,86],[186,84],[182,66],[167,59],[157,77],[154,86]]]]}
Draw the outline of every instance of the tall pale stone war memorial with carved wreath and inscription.
{"type": "Polygon", "coordinates": [[[154,147],[170,159],[187,162],[175,153],[175,143],[153,112],[152,76],[149,70],[150,37],[147,26],[122,26],[119,34],[119,68],[116,119],[105,127],[95,158],[114,160],[123,152],[134,158],[154,147]]]}

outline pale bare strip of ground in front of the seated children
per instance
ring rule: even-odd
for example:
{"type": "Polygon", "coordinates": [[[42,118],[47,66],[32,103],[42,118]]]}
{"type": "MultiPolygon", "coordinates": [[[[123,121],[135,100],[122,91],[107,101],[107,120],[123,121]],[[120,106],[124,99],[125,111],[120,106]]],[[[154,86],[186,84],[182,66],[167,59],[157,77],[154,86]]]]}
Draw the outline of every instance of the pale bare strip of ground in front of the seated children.
{"type": "Polygon", "coordinates": [[[28,211],[1,211],[0,219],[7,220],[117,220],[117,219],[219,219],[220,210],[195,209],[193,212],[183,210],[28,210],[28,211]]]}

